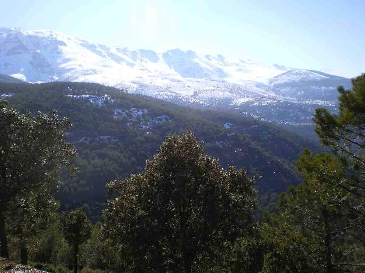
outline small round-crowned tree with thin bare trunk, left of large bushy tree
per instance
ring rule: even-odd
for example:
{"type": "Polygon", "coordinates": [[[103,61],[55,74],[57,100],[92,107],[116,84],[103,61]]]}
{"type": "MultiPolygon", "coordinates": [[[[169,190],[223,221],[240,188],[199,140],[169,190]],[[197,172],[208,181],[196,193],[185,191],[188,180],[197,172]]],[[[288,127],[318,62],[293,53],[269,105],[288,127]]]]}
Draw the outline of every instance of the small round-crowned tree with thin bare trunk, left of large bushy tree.
{"type": "Polygon", "coordinates": [[[72,210],[61,217],[62,231],[66,241],[74,250],[74,273],[77,273],[77,253],[79,246],[90,238],[91,222],[81,209],[72,210]]]}

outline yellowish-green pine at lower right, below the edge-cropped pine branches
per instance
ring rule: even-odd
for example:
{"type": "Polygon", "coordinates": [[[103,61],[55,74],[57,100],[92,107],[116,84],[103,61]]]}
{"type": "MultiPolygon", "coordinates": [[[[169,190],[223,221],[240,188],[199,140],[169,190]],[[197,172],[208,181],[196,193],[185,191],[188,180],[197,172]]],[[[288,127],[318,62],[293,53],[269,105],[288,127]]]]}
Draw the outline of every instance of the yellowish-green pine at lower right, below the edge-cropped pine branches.
{"type": "MultiPolygon", "coordinates": [[[[317,248],[312,264],[316,265],[316,272],[347,272],[351,266],[364,266],[347,256],[362,251],[352,249],[349,241],[351,234],[358,233],[350,221],[353,217],[352,204],[348,204],[350,193],[328,181],[330,178],[346,181],[343,162],[330,154],[313,156],[305,150],[297,168],[303,174],[304,183],[289,187],[281,195],[279,207],[304,237],[314,240],[317,248]]],[[[347,187],[346,183],[343,185],[347,187]]]]}

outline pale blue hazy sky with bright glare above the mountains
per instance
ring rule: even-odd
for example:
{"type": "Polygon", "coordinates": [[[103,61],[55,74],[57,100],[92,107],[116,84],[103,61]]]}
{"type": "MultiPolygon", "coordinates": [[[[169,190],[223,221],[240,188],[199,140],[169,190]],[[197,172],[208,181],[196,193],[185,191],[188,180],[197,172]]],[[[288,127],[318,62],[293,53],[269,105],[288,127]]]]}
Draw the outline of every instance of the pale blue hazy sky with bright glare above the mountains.
{"type": "Polygon", "coordinates": [[[0,27],[51,29],[108,46],[365,72],[365,0],[1,0],[0,8],[0,27]]]}

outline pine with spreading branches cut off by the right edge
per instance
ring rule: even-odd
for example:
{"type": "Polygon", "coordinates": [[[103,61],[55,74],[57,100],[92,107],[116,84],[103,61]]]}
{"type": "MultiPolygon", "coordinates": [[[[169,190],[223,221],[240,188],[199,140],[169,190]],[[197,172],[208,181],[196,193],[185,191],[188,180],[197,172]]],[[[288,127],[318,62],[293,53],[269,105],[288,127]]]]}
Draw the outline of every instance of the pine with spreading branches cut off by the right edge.
{"type": "Polygon", "coordinates": [[[347,165],[347,179],[326,179],[327,183],[348,191],[351,222],[362,231],[356,240],[365,243],[365,74],[351,79],[352,88],[339,92],[339,112],[331,114],[325,108],[315,111],[315,131],[322,144],[343,158],[347,165]]]}

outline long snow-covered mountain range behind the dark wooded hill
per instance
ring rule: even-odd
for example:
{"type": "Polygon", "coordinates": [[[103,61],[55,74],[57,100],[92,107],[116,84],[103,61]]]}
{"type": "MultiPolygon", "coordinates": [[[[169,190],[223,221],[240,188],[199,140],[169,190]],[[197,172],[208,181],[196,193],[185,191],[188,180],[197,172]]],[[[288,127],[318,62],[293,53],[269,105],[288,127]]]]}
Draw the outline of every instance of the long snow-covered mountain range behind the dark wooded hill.
{"type": "Polygon", "coordinates": [[[96,82],[170,102],[307,122],[349,79],[180,49],[130,50],[48,30],[0,28],[0,73],[31,82],[96,82]],[[300,109],[300,110],[298,110],[300,109]],[[275,114],[277,113],[277,114],[275,114]]]}

